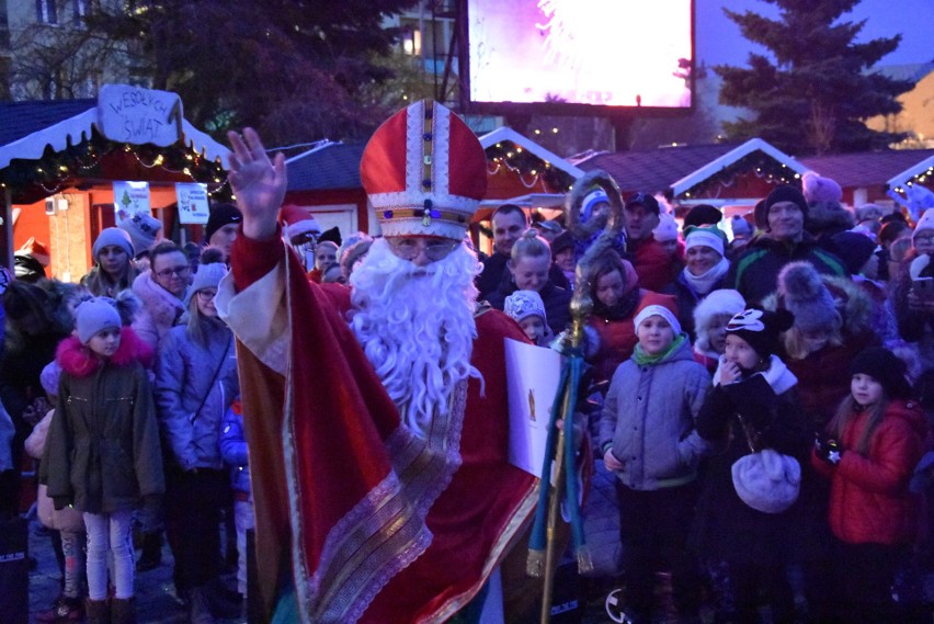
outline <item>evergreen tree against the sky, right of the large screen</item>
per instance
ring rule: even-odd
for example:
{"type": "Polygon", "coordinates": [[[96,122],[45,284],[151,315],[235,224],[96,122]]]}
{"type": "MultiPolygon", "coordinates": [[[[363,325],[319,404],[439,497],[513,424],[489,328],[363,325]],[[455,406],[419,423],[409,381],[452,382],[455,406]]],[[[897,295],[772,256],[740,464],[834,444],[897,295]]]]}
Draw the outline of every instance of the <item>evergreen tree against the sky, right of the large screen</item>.
{"type": "Polygon", "coordinates": [[[761,137],[789,154],[834,154],[884,148],[902,134],[864,123],[901,110],[897,97],[909,81],[872,71],[901,35],[854,43],[864,21],[846,22],[859,0],[763,0],[779,19],[724,9],[743,36],[771,55],[750,54],[749,67],[718,66],[720,103],[743,106],[754,118],[725,123],[729,138],[761,137]]]}

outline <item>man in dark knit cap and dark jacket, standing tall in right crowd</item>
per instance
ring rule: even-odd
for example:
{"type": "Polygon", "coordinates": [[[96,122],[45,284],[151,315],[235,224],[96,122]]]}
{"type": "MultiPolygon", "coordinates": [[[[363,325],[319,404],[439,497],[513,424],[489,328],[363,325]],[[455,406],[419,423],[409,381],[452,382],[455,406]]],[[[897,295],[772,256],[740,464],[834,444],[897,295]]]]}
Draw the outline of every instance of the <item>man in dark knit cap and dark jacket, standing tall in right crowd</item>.
{"type": "Polygon", "coordinates": [[[808,203],[800,191],[789,185],[776,188],[763,205],[767,218],[766,235],[753,240],[732,263],[727,283],[742,294],[748,305],[760,303],[775,291],[778,273],[789,262],[805,260],[818,273],[850,275],[843,261],[818,247],[805,231],[808,203]]]}

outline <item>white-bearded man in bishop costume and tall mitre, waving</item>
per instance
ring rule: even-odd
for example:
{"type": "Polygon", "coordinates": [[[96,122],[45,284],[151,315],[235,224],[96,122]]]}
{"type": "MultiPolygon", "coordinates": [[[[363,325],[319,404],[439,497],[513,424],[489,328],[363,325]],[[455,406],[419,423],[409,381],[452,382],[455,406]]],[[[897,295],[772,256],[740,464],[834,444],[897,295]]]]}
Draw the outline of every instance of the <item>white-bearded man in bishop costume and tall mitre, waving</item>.
{"type": "Polygon", "coordinates": [[[309,283],[280,240],[282,156],[249,129],[230,139],[243,236],[217,305],[241,347],[267,615],[476,621],[536,496],[508,462],[503,339],[523,333],[475,309],[463,243],[482,147],[436,103],[377,129],[361,177],[384,238],[348,290],[309,283]]]}

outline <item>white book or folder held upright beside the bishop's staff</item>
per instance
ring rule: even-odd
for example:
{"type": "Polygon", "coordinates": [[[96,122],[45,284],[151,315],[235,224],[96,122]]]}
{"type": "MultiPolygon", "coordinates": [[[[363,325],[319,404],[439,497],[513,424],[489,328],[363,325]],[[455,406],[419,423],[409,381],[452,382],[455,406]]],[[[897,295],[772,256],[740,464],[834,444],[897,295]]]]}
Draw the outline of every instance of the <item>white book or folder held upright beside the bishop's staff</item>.
{"type": "Polygon", "coordinates": [[[509,395],[509,461],[542,476],[551,404],[561,381],[561,355],[545,347],[505,339],[509,395]]]}

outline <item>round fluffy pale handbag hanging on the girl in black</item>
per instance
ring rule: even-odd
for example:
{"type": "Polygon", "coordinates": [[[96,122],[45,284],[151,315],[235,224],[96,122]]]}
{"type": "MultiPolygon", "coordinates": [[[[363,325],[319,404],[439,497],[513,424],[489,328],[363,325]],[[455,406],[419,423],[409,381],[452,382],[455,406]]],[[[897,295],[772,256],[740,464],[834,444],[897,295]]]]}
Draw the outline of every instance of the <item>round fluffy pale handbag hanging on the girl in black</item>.
{"type": "Polygon", "coordinates": [[[756,451],[749,427],[742,416],[737,417],[750,450],[750,454],[737,460],[731,468],[737,496],[756,511],[782,513],[798,500],[801,465],[773,449],[756,451]]]}

